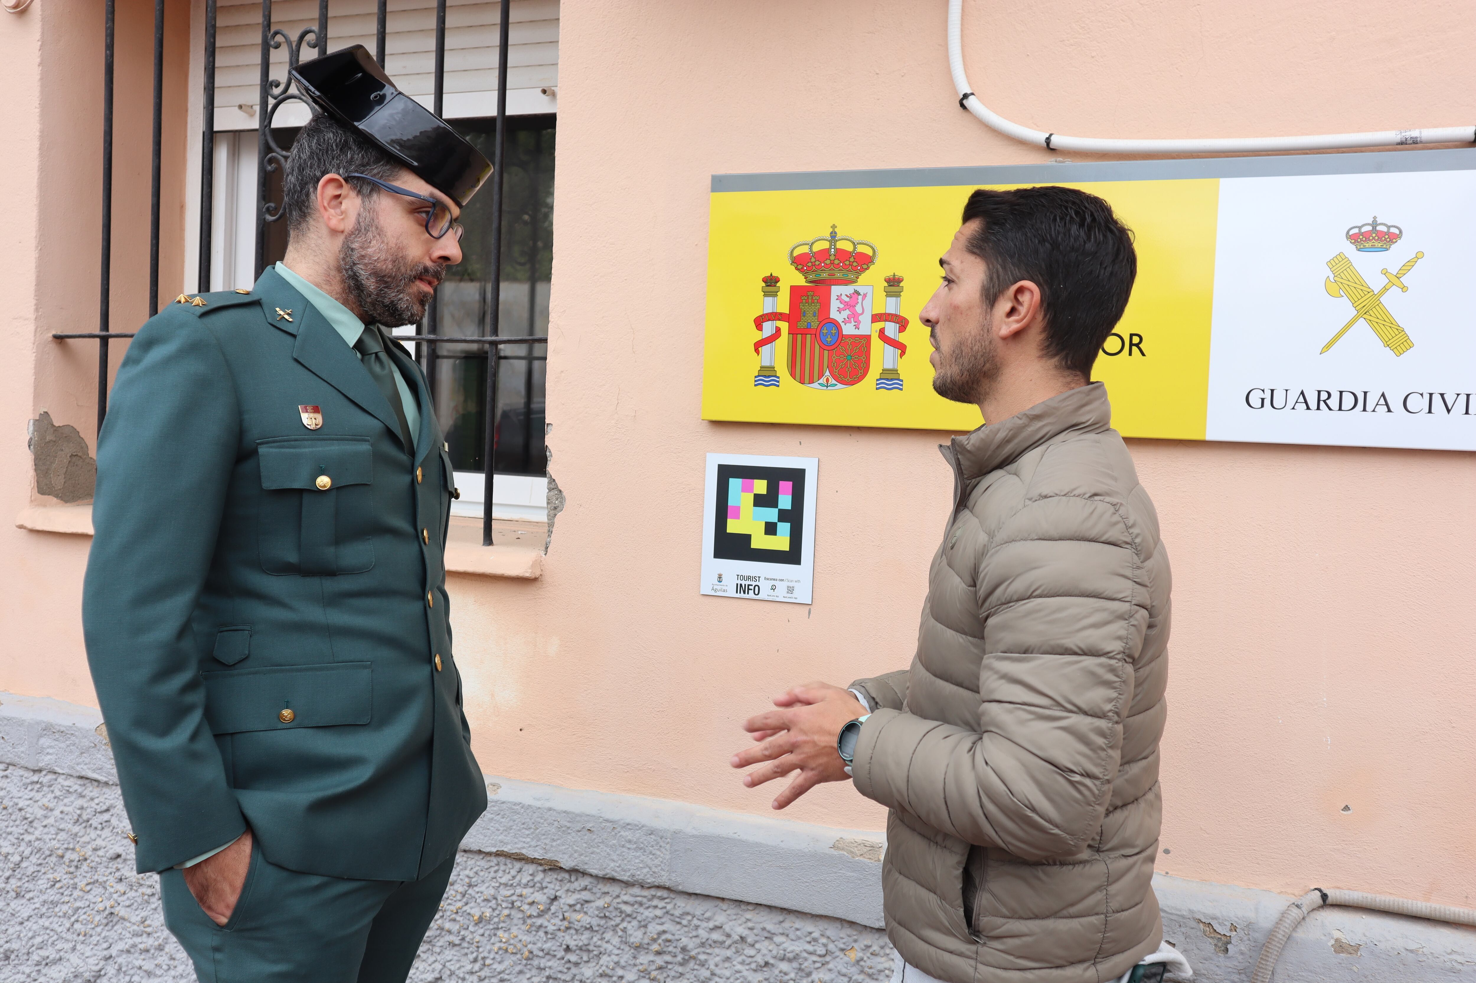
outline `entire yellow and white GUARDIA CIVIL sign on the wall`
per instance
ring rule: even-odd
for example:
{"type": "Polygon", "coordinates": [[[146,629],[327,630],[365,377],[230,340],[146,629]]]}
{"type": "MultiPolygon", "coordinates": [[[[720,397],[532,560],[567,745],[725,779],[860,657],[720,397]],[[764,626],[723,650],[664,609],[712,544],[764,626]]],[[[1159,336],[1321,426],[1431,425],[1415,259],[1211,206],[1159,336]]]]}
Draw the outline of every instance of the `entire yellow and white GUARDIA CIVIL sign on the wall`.
{"type": "Polygon", "coordinates": [[[1134,230],[1125,436],[1476,451],[1476,149],[714,175],[703,419],[979,426],[918,312],[968,195],[1039,184],[1134,230]]]}

